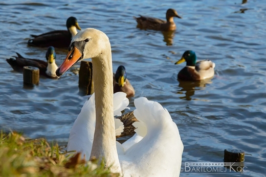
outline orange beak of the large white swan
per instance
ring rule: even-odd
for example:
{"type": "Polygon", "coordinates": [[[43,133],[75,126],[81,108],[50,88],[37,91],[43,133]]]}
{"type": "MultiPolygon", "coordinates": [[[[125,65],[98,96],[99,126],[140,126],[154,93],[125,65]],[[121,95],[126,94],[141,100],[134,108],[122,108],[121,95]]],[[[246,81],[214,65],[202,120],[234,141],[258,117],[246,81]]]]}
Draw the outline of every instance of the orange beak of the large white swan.
{"type": "Polygon", "coordinates": [[[57,77],[60,77],[61,75],[63,75],[63,73],[69,70],[71,66],[73,66],[75,63],[77,63],[80,60],[81,56],[82,54],[79,51],[79,49],[73,46],[72,50],[70,50],[70,52],[66,56],[64,62],[55,71],[57,77]]]}

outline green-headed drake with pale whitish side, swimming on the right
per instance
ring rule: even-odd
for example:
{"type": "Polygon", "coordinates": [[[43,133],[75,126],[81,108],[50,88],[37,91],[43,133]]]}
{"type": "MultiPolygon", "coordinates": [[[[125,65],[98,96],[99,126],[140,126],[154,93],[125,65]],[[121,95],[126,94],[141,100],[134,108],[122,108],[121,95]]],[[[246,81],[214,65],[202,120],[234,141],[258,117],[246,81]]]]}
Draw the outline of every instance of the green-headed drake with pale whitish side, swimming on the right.
{"type": "Polygon", "coordinates": [[[195,52],[187,50],[175,64],[187,62],[187,66],[178,73],[178,78],[186,81],[199,81],[214,75],[215,63],[210,60],[197,61],[195,52]]]}

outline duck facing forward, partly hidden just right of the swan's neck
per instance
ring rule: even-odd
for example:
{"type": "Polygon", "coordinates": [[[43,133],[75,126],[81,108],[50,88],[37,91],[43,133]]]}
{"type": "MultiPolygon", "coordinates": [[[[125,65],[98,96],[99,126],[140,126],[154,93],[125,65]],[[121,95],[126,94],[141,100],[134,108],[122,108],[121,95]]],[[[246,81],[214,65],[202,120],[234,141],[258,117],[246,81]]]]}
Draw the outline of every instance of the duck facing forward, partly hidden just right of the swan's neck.
{"type": "Polygon", "coordinates": [[[126,97],[134,96],[135,90],[127,79],[126,68],[124,66],[118,66],[116,73],[114,74],[114,93],[124,92],[126,97]]]}

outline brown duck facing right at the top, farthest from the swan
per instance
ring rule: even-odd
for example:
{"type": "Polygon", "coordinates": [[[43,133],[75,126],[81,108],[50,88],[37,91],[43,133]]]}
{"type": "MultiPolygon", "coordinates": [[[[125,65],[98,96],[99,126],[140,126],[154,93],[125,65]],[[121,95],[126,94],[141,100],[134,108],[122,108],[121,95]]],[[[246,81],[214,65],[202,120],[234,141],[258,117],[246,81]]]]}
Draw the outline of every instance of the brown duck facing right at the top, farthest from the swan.
{"type": "Polygon", "coordinates": [[[146,17],[140,15],[140,17],[134,17],[137,22],[138,26],[141,29],[150,29],[150,30],[157,30],[157,31],[172,31],[176,29],[175,23],[173,21],[173,17],[182,18],[178,15],[174,9],[168,9],[166,12],[166,20],[161,20],[159,18],[153,17],[146,17]]]}

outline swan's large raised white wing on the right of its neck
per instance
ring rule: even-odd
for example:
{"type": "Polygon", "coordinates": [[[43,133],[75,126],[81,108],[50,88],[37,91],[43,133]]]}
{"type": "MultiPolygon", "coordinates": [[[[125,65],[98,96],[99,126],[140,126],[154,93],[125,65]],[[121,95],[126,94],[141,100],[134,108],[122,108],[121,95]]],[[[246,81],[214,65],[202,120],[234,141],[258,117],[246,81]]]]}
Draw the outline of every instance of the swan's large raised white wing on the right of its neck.
{"type": "Polygon", "coordinates": [[[178,176],[183,143],[168,111],[145,97],[135,99],[134,115],[144,123],[147,134],[119,156],[124,174],[141,176],[178,176]]]}

